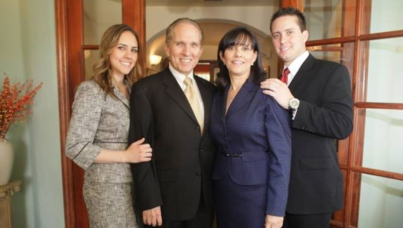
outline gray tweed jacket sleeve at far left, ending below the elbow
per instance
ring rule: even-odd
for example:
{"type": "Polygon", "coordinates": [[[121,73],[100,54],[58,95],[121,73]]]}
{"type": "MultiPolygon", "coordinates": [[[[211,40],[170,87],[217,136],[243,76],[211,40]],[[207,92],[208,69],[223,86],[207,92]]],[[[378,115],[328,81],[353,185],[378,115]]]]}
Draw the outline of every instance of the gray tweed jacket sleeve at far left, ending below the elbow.
{"type": "Polygon", "coordinates": [[[82,83],[75,95],[65,143],[65,155],[86,170],[98,157],[100,147],[94,144],[101,117],[104,92],[94,82],[82,83]]]}

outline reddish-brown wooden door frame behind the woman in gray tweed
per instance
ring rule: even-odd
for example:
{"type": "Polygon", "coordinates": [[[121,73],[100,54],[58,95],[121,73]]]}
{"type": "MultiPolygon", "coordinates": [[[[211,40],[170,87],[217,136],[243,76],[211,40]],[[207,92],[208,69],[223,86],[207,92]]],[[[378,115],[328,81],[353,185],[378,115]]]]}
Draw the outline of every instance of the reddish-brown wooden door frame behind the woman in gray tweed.
{"type": "MultiPolygon", "coordinates": [[[[54,4],[64,225],[66,228],[74,228],[77,225],[77,211],[75,210],[73,162],[64,155],[65,138],[74,100],[72,88],[76,88],[84,80],[83,50],[97,49],[97,46],[88,45],[88,48],[84,48],[83,31],[72,29],[79,26],[79,28],[83,28],[82,1],[55,0],[54,4]],[[68,15],[69,8],[72,7],[81,9],[81,11],[68,15]],[[72,32],[77,32],[77,34],[72,34],[72,32]],[[69,40],[69,36],[80,38],[69,40]],[[74,75],[74,77],[69,77],[69,75],[74,75]]],[[[139,34],[140,49],[144,50],[139,56],[139,63],[143,69],[146,66],[145,6],[145,0],[122,0],[122,23],[130,25],[139,34]]]]}

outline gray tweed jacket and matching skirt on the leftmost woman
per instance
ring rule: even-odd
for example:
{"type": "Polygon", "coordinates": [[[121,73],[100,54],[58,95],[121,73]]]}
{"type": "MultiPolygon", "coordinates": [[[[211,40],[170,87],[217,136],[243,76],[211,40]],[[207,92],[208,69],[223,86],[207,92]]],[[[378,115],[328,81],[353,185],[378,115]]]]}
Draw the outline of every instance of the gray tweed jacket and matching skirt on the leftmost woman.
{"type": "Polygon", "coordinates": [[[133,208],[133,178],[128,163],[94,163],[100,149],[127,148],[129,102],[93,81],[83,82],[73,103],[65,155],[85,170],[83,195],[90,227],[138,227],[133,208]]]}

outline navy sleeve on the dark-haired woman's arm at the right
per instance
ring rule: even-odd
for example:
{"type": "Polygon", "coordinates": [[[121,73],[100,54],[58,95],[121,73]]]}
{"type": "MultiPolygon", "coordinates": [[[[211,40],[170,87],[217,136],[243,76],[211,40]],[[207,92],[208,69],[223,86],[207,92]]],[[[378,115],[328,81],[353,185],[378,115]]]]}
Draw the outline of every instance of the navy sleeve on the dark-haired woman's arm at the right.
{"type": "Polygon", "coordinates": [[[291,168],[290,114],[267,96],[264,117],[269,148],[266,214],[285,216],[291,168]]]}

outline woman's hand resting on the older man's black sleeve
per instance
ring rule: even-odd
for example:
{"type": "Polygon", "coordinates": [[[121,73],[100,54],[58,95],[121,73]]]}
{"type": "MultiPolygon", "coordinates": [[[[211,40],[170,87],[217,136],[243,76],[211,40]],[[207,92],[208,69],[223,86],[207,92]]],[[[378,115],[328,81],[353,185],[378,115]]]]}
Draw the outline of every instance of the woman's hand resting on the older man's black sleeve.
{"type": "Polygon", "coordinates": [[[130,146],[124,151],[125,162],[127,163],[140,163],[149,162],[153,156],[150,144],[144,142],[144,138],[137,140],[130,144],[130,146]]]}

